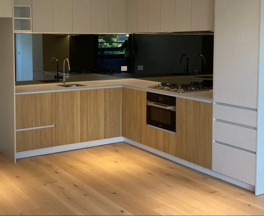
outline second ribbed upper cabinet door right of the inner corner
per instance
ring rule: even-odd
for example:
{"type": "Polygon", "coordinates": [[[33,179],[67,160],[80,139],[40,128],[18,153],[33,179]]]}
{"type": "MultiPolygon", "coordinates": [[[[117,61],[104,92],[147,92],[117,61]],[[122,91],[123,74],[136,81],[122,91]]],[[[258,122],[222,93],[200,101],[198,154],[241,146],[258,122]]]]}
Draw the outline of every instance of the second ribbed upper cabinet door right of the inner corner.
{"type": "Polygon", "coordinates": [[[149,0],[138,0],[138,33],[148,32],[148,4],[149,0]]]}

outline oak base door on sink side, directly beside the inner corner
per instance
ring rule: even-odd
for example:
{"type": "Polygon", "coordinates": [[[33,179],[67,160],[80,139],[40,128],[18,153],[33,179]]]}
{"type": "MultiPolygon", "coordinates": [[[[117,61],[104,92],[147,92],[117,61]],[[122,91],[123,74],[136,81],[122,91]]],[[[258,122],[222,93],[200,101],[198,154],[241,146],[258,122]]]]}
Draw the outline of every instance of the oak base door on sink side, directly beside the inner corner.
{"type": "Polygon", "coordinates": [[[122,88],[104,89],[104,138],[122,136],[122,88]]]}

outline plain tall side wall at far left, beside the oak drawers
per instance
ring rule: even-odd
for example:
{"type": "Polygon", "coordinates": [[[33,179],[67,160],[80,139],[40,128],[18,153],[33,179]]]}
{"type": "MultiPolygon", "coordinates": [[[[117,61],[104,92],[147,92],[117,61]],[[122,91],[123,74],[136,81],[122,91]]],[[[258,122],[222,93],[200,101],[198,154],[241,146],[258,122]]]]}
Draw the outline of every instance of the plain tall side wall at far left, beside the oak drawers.
{"type": "Polygon", "coordinates": [[[15,73],[13,19],[0,18],[0,152],[15,159],[15,73]]]}

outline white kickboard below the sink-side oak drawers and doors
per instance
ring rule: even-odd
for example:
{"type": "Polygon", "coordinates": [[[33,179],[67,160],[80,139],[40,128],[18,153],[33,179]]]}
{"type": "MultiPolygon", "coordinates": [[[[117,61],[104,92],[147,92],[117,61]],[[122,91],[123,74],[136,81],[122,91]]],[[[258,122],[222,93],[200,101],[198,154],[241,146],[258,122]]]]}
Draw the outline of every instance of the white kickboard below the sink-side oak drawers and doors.
{"type": "Polygon", "coordinates": [[[116,142],[123,142],[124,137],[115,137],[115,138],[109,138],[104,140],[95,140],[95,141],[89,141],[89,142],[81,142],[81,143],[74,143],[69,145],[63,145],[63,146],[54,146],[49,147],[45,149],[36,149],[36,150],[30,150],[30,151],[22,151],[16,153],[16,159],[23,158],[23,157],[32,157],[32,156],[38,156],[38,155],[46,155],[46,154],[52,154],[62,151],[70,151],[70,150],[76,150],[76,149],[84,149],[88,147],[93,146],[101,146],[116,142]]]}

